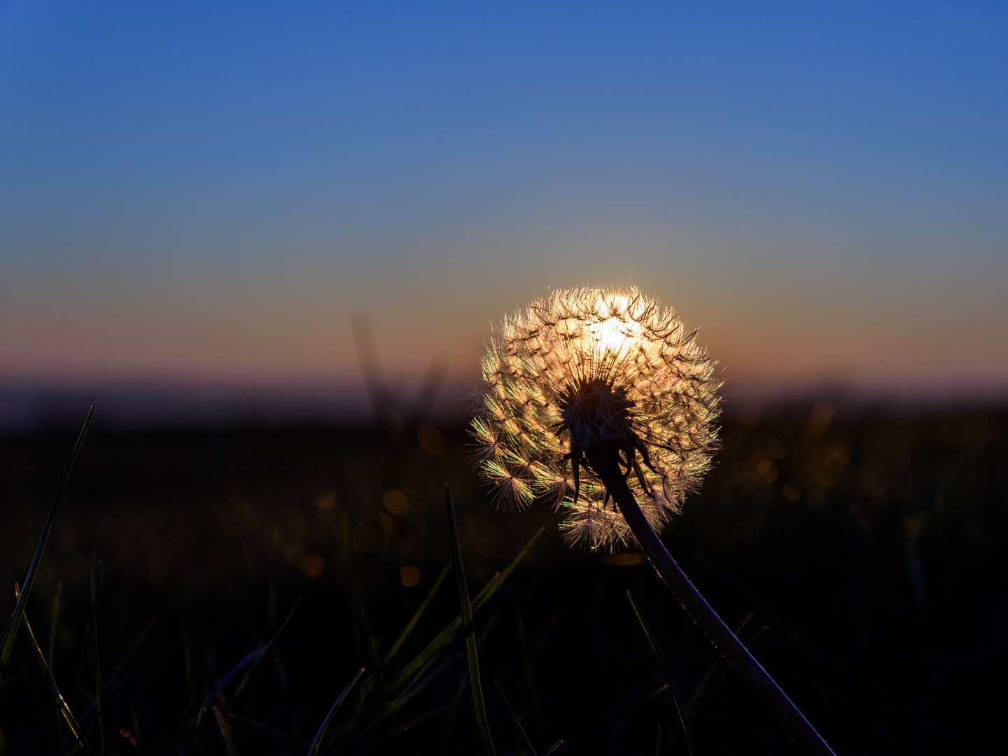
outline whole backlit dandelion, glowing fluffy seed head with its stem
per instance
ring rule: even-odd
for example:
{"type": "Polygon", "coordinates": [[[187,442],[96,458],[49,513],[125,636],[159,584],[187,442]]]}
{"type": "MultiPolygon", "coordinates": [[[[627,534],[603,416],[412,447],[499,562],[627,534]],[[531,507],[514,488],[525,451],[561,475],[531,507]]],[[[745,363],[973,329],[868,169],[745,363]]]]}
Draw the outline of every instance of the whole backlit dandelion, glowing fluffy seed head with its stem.
{"type": "Polygon", "coordinates": [[[475,462],[499,505],[551,501],[572,543],[639,543],[791,738],[806,753],[832,754],[656,533],[711,468],[714,368],[696,332],[636,288],[554,291],[494,328],[472,426],[475,462]]]}

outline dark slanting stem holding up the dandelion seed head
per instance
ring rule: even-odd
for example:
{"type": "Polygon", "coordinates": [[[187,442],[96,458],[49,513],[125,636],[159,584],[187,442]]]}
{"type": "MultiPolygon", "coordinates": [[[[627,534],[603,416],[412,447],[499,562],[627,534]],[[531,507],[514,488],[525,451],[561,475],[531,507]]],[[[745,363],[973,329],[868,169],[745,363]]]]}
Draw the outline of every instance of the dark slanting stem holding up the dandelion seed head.
{"type": "Polygon", "coordinates": [[[739,674],[762,700],[777,722],[802,751],[809,756],[835,756],[822,736],[808,724],[808,720],[802,716],[798,708],[791,703],[780,686],[749,653],[749,649],[742,645],[742,641],[735,637],[735,633],[729,629],[728,625],[722,622],[721,617],[711,608],[711,605],[700,595],[679,565],[675,563],[675,559],[668,553],[657,533],[645,519],[644,513],[640,510],[640,506],[619,468],[606,472],[608,474],[601,471],[599,474],[603,484],[619,506],[627,524],[630,525],[630,529],[633,530],[633,534],[643,547],[644,553],[647,554],[647,558],[658,571],[658,575],[661,576],[665,585],[675,594],[675,598],[679,600],[682,608],[686,610],[694,622],[701,626],[721,655],[738,670],[739,674]]]}

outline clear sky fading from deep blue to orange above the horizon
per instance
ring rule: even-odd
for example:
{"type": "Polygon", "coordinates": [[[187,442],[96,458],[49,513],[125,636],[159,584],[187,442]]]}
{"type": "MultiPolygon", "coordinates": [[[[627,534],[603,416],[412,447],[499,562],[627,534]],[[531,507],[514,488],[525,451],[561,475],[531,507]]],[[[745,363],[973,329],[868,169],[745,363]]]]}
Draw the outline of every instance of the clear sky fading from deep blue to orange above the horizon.
{"type": "Polygon", "coordinates": [[[463,378],[577,284],[739,387],[1003,392],[1008,6],[0,2],[0,379],[347,381],[361,311],[463,378]]]}

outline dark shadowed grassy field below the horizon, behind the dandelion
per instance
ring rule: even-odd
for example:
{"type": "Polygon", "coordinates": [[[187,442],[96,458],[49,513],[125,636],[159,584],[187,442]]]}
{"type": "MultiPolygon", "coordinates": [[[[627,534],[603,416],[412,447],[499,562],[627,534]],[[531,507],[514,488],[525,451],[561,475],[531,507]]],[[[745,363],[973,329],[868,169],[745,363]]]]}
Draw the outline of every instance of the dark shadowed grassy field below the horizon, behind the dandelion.
{"type": "MultiPolygon", "coordinates": [[[[664,540],[837,753],[1008,751],[1008,411],[834,417],[821,404],[722,435],[664,540]]],[[[4,619],[75,437],[0,438],[4,619]]],[[[494,511],[465,455],[457,427],[92,428],[27,616],[96,752],[93,551],[110,753],[225,754],[219,721],[238,753],[307,753],[362,666],[322,752],[482,753],[461,637],[395,685],[459,614],[451,574],[386,663],[450,559],[447,481],[474,597],[545,526],[476,614],[498,754],[530,751],[494,680],[538,754],[560,739],[555,754],[686,753],[627,590],[689,705],[698,754],[797,753],[639,555],[568,548],[543,506],[494,511]],[[229,670],[298,596],[236,695],[249,666],[229,670]],[[197,729],[208,694],[219,716],[197,729]]],[[[74,747],[23,630],[0,744],[74,747]]]]}

